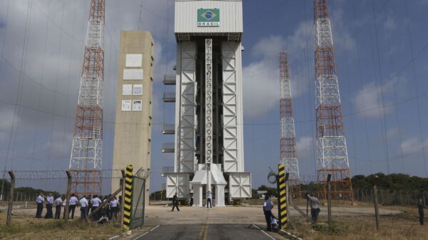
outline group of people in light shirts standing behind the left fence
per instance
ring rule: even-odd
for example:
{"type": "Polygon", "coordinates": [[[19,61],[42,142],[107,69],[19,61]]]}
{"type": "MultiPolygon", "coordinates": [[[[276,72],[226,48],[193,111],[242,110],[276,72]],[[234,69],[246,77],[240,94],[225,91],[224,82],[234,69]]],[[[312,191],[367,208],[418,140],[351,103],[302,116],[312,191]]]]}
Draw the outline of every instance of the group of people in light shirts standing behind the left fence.
{"type": "MultiPolygon", "coordinates": [[[[64,208],[63,212],[63,218],[66,217],[66,211],[65,207],[67,204],[66,199],[62,199],[63,196],[59,195],[56,199],[52,196],[52,194],[48,194],[48,196],[44,196],[43,193],[40,193],[39,196],[37,196],[36,204],[37,204],[37,211],[36,211],[36,218],[41,218],[41,214],[43,212],[43,205],[46,204],[46,214],[44,216],[45,219],[60,219],[61,216],[61,208],[64,208]],[[55,216],[52,212],[52,207],[55,204],[55,216]]],[[[80,207],[81,217],[80,219],[86,219],[87,216],[94,212],[91,216],[92,221],[98,221],[101,216],[108,217],[109,220],[118,219],[118,214],[120,212],[120,206],[121,206],[121,197],[119,199],[116,199],[116,197],[111,197],[111,195],[103,197],[101,195],[94,194],[91,195],[83,195],[81,199],[78,199],[78,196],[76,194],[71,194],[70,199],[68,200],[68,217],[70,217],[71,213],[71,219],[74,219],[74,212],[76,211],[76,207],[80,207]],[[111,199],[109,202],[108,199],[111,199]],[[103,202],[106,202],[104,204],[103,208],[96,211],[98,207],[103,204],[103,202]]]]}

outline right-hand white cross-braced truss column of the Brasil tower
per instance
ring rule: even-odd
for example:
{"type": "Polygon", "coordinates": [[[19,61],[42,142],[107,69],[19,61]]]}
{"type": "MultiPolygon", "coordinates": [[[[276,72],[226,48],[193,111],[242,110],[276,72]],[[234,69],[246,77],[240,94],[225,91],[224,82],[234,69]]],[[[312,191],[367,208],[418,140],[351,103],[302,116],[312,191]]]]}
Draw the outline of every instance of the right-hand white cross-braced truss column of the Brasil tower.
{"type": "Polygon", "coordinates": [[[223,146],[224,172],[243,170],[238,151],[238,73],[236,71],[239,43],[223,42],[223,146]]]}

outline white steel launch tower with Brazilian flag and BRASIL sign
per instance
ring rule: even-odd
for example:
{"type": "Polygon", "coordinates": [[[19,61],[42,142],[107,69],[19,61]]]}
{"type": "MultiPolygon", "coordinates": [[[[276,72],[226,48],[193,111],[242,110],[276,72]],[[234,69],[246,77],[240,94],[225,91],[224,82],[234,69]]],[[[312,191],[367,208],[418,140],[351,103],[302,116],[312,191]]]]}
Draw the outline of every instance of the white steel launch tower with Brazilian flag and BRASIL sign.
{"type": "Polygon", "coordinates": [[[251,197],[244,172],[242,1],[175,1],[175,164],[167,197],[251,197]]]}

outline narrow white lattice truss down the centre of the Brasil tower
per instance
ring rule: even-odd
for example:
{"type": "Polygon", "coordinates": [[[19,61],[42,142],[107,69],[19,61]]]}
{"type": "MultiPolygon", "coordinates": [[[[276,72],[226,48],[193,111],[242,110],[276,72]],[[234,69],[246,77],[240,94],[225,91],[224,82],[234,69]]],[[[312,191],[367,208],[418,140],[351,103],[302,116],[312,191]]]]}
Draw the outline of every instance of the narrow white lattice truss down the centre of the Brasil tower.
{"type": "Polygon", "coordinates": [[[213,163],[213,39],[205,39],[205,163],[213,163]]]}

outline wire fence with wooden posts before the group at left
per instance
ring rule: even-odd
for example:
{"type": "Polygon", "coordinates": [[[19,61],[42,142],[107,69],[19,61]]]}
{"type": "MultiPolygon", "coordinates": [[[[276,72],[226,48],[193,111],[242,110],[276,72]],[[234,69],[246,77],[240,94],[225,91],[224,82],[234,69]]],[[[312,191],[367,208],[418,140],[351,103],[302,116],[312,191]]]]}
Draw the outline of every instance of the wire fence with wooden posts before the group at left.
{"type": "MultiPolygon", "coordinates": [[[[96,219],[98,221],[104,219],[104,221],[111,222],[113,226],[121,227],[121,217],[123,216],[121,211],[121,205],[123,204],[121,182],[124,177],[122,171],[123,169],[103,169],[101,171],[101,194],[98,195],[101,199],[101,207],[100,209],[91,208],[91,197],[93,196],[87,195],[86,198],[88,199],[89,207],[85,215],[88,216],[88,214],[91,215],[93,212],[98,212],[95,218],[92,217],[87,220],[96,219]],[[116,193],[116,196],[113,196],[113,193],[116,193]],[[115,209],[109,205],[113,197],[118,199],[118,207],[115,209]]],[[[75,205],[76,207],[71,207],[73,204],[66,206],[64,203],[69,182],[66,171],[14,171],[13,175],[12,179],[9,172],[0,172],[0,176],[4,176],[4,180],[0,180],[0,210],[7,212],[8,220],[6,221],[6,225],[14,222],[15,218],[22,219],[24,217],[33,219],[34,216],[57,218],[58,221],[81,219],[83,212],[79,203],[75,205]],[[42,199],[39,201],[39,207],[36,202],[38,197],[42,199]],[[61,199],[60,204],[57,204],[56,200],[58,198],[61,199]],[[66,217],[67,214],[65,214],[66,207],[68,207],[68,219],[66,217]]],[[[146,178],[148,177],[148,172],[141,169],[135,175],[136,183],[133,190],[136,194],[136,201],[133,202],[133,208],[135,209],[135,222],[138,226],[141,226],[144,219],[146,178]]],[[[69,194],[73,194],[72,189],[69,194]]],[[[76,197],[79,201],[83,197],[83,194],[76,194],[76,197]]],[[[68,198],[67,202],[70,203],[70,198],[68,198]]]]}

